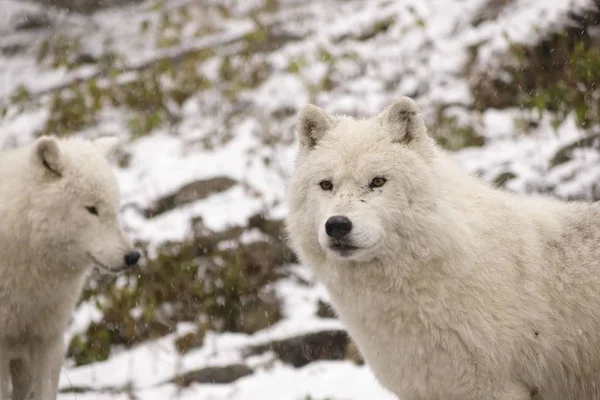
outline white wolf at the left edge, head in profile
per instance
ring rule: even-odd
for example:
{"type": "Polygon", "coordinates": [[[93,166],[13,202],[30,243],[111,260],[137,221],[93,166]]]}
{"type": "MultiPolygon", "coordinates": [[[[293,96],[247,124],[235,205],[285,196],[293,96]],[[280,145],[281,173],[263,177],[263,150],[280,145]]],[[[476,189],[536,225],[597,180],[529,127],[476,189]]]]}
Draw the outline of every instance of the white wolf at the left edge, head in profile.
{"type": "Polygon", "coordinates": [[[105,156],[116,138],[41,137],[0,153],[0,400],[56,399],[63,334],[93,267],[140,253],[122,232],[105,156]]]}

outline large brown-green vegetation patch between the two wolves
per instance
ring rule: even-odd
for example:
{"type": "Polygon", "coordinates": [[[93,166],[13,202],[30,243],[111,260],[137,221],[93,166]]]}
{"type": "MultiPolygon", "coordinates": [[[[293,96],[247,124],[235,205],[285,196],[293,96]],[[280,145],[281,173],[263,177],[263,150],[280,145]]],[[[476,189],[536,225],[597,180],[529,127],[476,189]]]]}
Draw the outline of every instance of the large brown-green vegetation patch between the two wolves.
{"type": "Polygon", "coordinates": [[[102,319],[75,335],[67,355],[83,365],[105,360],[112,346],[130,347],[175,332],[179,322],[196,326],[176,340],[181,353],[202,345],[207,330],[252,333],[280,318],[279,300],[268,288],[291,251],[278,238],[281,223],[253,217],[269,241],[242,243],[243,228],[196,235],[163,245],[158,256],[119,279],[93,279],[82,301],[102,319]]]}

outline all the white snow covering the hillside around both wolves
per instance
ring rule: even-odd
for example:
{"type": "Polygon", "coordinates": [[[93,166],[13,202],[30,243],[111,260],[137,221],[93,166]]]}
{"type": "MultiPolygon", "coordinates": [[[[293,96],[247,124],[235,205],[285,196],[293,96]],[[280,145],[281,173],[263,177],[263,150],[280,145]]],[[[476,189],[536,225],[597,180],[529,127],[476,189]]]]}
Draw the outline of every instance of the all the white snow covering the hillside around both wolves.
{"type": "MultiPolygon", "coordinates": [[[[167,49],[154,45],[152,35],[156,35],[159,18],[153,2],[90,17],[58,12],[52,17],[60,29],[79,32],[82,47],[90,53],[102,53],[105,39],[110,37],[112,48],[131,67],[186,49],[213,48],[214,55],[198,65],[213,82],[219,80],[223,57],[239,52],[244,35],[256,31],[256,22],[250,18],[252,10],[258,10],[263,26],[273,27],[287,37],[283,44],[248,59],[249,63],[270,66],[268,76],[257,87],[240,91],[232,100],[213,86],[183,104],[176,126],[158,128],[148,136],[125,143],[130,162],[126,168],[116,168],[122,188],[123,222],[133,238],[156,246],[188,237],[189,221],[196,216],[202,216],[209,228],[221,230],[243,224],[257,212],[277,218],[285,215],[286,182],[296,151],[294,117],[309,101],[328,112],[360,116],[379,112],[398,95],[409,95],[432,123],[436,110],[449,105],[450,114],[478,124],[486,138],[483,147],[453,153],[469,171],[490,181],[512,172],[515,177],[508,181],[507,188],[517,192],[551,188],[565,198],[588,196],[593,182],[600,178],[596,151],[581,150],[571,161],[550,168],[550,160],[558,149],[582,137],[583,132],[574,121],[568,119],[555,132],[550,122],[543,120],[524,135],[516,129],[515,119],[526,111],[468,111],[473,100],[464,70],[467,62],[477,63],[481,69],[491,68],[506,51],[509,40],[532,43],[544,30],[559,26],[567,10],[585,7],[590,1],[514,0],[496,18],[474,24],[476,15],[488,2],[279,0],[274,10],[267,10],[260,0],[173,0],[167,1],[166,7],[191,4],[193,18],[179,31],[180,44],[167,49]],[[224,6],[228,14],[216,13],[211,5],[224,6]],[[145,33],[139,28],[143,21],[151,21],[145,33]],[[389,27],[381,28],[383,23],[389,23],[389,27]],[[209,25],[207,33],[194,34],[199,27],[209,25]],[[475,45],[478,56],[472,60],[469,54],[475,45]],[[302,67],[292,71],[291,63],[302,67]],[[331,88],[322,87],[324,78],[333,82],[331,88]],[[241,112],[234,115],[235,109],[241,112]],[[291,112],[280,117],[282,110],[291,112]],[[210,149],[201,145],[203,140],[223,132],[231,139],[210,149]],[[269,135],[277,140],[269,142],[269,135]],[[138,211],[182,185],[215,176],[229,177],[240,184],[154,218],[145,218],[138,211]]],[[[43,30],[13,29],[19,13],[36,12],[36,5],[0,0],[0,8],[0,48],[23,43],[31,46],[44,39],[47,33],[43,30]]],[[[96,73],[95,67],[89,65],[73,71],[39,65],[34,50],[28,46],[23,53],[0,55],[0,104],[21,85],[35,95],[96,73]]],[[[9,107],[0,119],[0,148],[33,140],[35,130],[48,117],[48,100],[43,95],[39,98],[40,107],[9,107]]],[[[126,139],[124,121],[122,113],[112,110],[81,134],[117,134],[126,139]]],[[[63,393],[59,399],[393,399],[364,365],[319,361],[293,368],[274,357],[242,355],[251,344],[343,328],[337,320],[315,316],[318,299],[326,299],[327,294],[314,281],[310,268],[289,268],[312,283],[301,285],[290,278],[275,284],[284,300],[285,318],[271,328],[253,335],[209,333],[201,348],[181,356],[173,340],[186,332],[187,327],[182,324],[177,334],[116,352],[105,362],[65,367],[61,388],[75,386],[87,391],[63,393]],[[184,371],[238,362],[251,365],[255,372],[231,384],[192,384],[182,390],[167,382],[184,371]],[[129,389],[118,393],[108,390],[124,387],[129,389]]],[[[69,334],[84,329],[95,312],[95,308],[82,304],[69,334]]]]}

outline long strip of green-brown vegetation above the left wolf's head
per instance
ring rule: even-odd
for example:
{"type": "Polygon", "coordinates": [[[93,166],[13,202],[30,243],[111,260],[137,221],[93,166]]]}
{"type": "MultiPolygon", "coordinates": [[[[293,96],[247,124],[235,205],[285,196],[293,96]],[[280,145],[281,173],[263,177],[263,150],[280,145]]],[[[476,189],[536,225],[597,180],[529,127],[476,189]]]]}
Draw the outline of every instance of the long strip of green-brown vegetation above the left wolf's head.
{"type": "MultiPolygon", "coordinates": [[[[50,115],[38,135],[66,136],[93,126],[102,111],[117,108],[128,115],[132,138],[179,120],[183,103],[198,92],[211,87],[197,67],[212,55],[210,50],[189,52],[177,63],[158,60],[147,68],[133,71],[133,79],[119,79],[116,68],[108,77],[76,81],[50,95],[50,115]]],[[[21,90],[13,96],[13,104],[30,101],[21,90]]]]}

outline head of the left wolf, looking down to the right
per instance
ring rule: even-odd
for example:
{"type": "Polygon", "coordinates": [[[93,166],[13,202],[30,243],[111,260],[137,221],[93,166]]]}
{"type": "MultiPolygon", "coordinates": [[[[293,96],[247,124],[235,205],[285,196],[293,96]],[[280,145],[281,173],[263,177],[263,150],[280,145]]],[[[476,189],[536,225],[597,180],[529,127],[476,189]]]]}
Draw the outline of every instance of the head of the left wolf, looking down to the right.
{"type": "Polygon", "coordinates": [[[43,136],[31,146],[31,244],[49,265],[118,272],[138,262],[118,222],[119,188],[107,160],[117,144],[43,136]]]}

